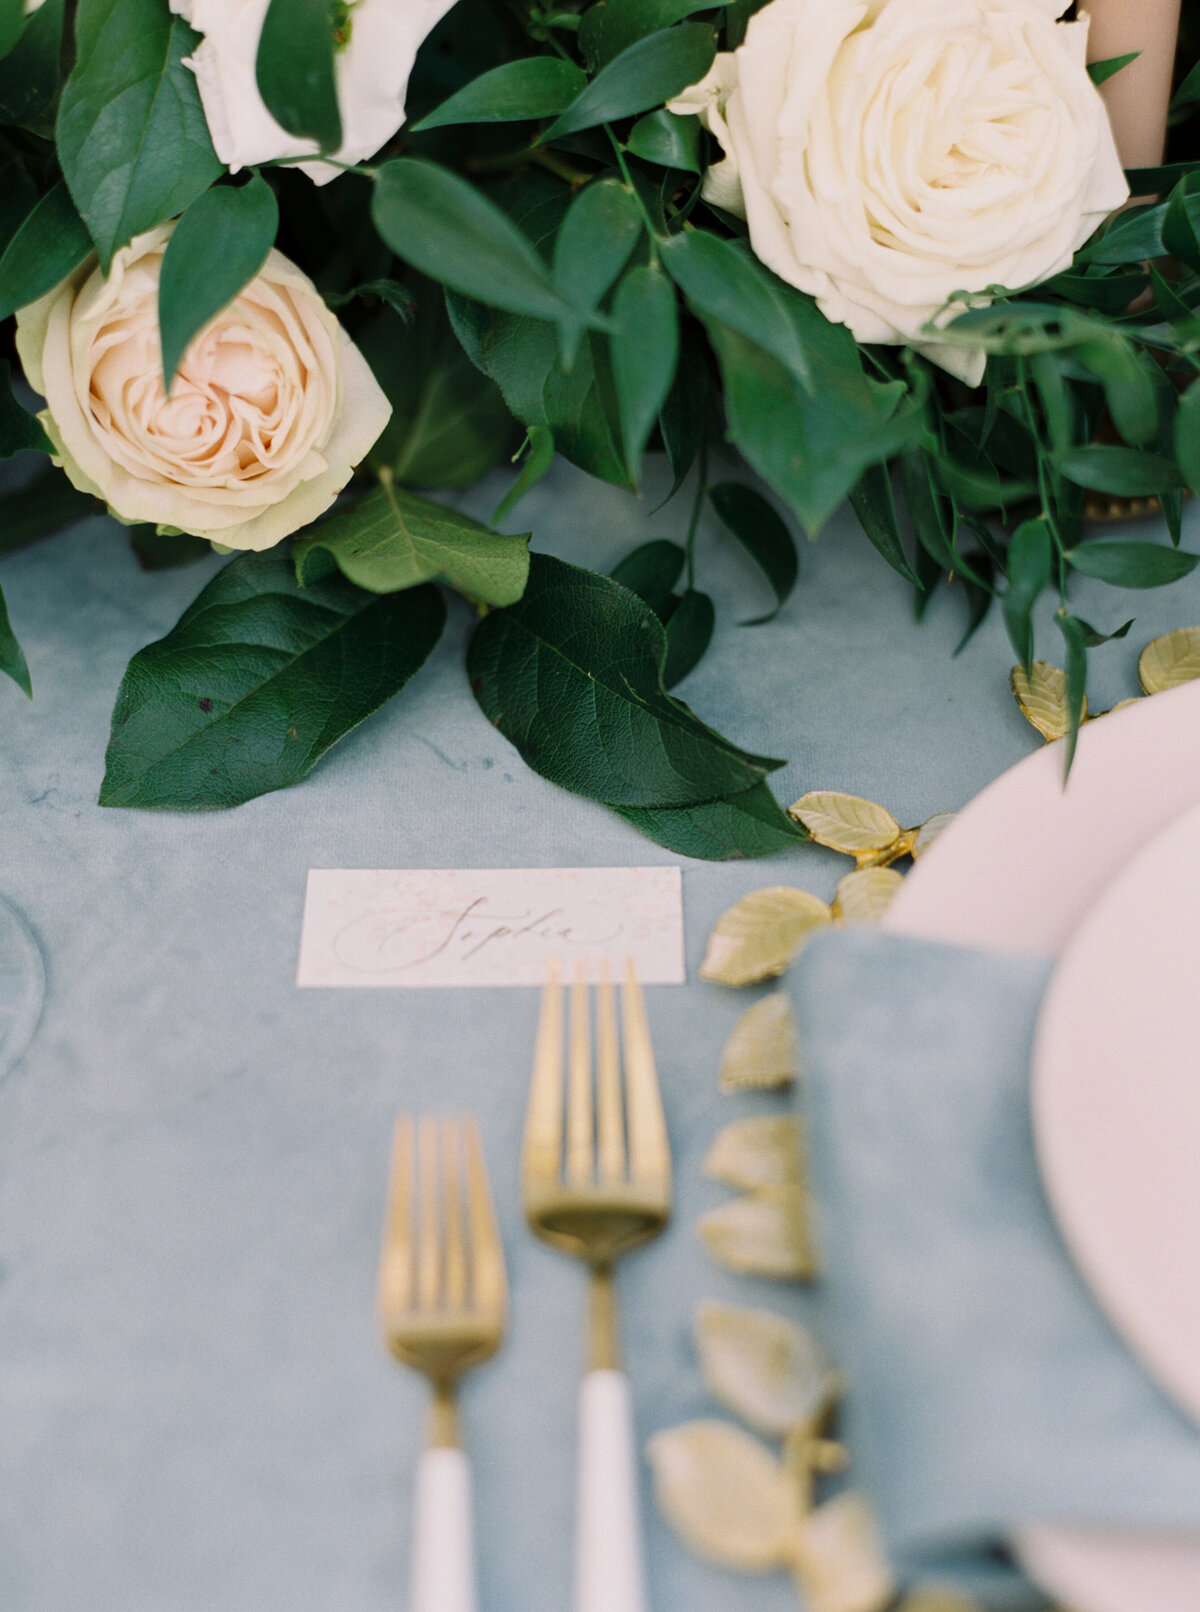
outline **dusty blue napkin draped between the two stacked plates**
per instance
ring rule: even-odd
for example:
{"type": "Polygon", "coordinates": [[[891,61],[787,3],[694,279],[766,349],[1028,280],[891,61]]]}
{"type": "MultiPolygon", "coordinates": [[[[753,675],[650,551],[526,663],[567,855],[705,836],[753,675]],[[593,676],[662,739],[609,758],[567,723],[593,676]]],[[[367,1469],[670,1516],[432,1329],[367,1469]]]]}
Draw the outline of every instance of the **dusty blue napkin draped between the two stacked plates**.
{"type": "Polygon", "coordinates": [[[900,1559],[1021,1522],[1200,1530],[1200,1431],[1045,1201],[1029,1054],[1052,964],[871,930],[794,977],[847,1441],[900,1559]]]}

